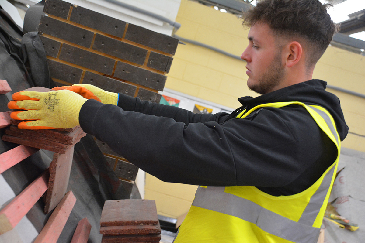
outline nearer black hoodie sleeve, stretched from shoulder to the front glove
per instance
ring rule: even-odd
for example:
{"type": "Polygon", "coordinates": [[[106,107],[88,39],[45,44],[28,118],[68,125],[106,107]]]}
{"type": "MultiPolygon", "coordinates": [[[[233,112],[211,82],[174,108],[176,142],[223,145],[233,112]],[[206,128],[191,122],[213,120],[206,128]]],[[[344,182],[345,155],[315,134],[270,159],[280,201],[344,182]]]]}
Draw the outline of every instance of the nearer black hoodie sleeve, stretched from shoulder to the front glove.
{"type": "Polygon", "coordinates": [[[269,107],[246,119],[186,125],[90,99],[79,120],[85,132],[163,181],[280,187],[295,180],[320,152],[315,131],[301,129],[298,135],[280,113],[285,109],[269,107]]]}

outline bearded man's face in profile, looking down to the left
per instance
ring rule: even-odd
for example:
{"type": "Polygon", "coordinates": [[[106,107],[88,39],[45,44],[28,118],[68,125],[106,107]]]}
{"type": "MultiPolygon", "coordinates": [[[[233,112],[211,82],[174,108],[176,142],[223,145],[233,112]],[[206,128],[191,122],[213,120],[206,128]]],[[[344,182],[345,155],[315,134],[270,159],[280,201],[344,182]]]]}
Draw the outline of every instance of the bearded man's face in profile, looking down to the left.
{"type": "Polygon", "coordinates": [[[241,54],[241,59],[247,62],[247,86],[259,94],[276,90],[284,79],[285,70],[272,30],[267,24],[255,23],[247,38],[249,45],[241,54]]]}

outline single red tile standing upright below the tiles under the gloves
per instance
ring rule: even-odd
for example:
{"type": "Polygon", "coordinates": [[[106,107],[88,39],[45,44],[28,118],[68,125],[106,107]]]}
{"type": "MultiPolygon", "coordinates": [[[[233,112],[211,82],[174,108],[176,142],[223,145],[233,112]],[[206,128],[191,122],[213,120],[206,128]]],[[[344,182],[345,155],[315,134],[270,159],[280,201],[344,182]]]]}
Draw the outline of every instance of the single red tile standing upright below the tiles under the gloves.
{"type": "Polygon", "coordinates": [[[74,146],[64,154],[54,153],[49,165],[48,189],[44,197],[44,213],[51,212],[65,195],[69,183],[74,146]]]}

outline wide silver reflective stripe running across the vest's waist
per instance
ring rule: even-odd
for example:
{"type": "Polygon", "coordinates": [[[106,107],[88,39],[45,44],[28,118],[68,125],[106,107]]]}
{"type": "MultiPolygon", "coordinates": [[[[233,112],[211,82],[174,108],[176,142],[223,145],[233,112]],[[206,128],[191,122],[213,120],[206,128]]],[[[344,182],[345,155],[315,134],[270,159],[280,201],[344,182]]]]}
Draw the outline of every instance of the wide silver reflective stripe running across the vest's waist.
{"type": "Polygon", "coordinates": [[[314,243],[319,228],[297,223],[242,197],[224,192],[224,187],[199,187],[193,206],[235,216],[256,224],[269,234],[297,243],[314,243]]]}

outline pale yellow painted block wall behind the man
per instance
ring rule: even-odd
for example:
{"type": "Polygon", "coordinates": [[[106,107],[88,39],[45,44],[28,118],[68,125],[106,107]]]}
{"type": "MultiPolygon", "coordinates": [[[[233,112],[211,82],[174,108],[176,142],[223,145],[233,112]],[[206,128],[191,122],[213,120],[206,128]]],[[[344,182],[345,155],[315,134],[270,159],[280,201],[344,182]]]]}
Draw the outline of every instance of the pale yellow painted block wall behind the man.
{"type": "MultiPolygon", "coordinates": [[[[241,55],[248,30],[230,13],[190,0],[181,0],[176,18],[181,23],[176,35],[241,55]]],[[[246,82],[246,62],[204,47],[185,43],[177,47],[165,87],[224,106],[237,108],[237,98],[250,95],[246,82]]],[[[365,94],[365,56],[328,47],[317,64],[313,78],[329,85],[365,94]]],[[[365,99],[328,89],[341,100],[350,133],[342,146],[365,152],[365,99]]],[[[146,175],[145,198],[156,200],[158,214],[178,217],[188,211],[196,186],[165,183],[146,175]]]]}

